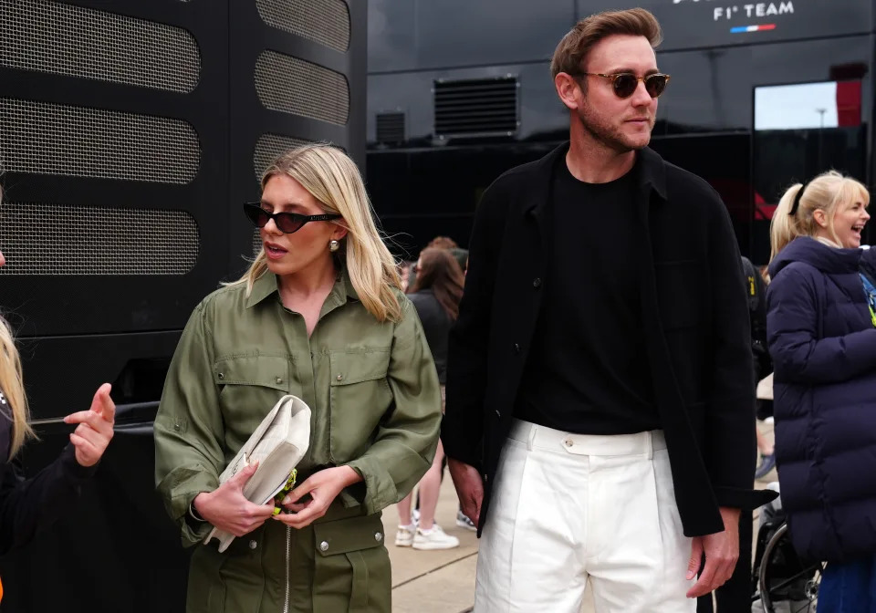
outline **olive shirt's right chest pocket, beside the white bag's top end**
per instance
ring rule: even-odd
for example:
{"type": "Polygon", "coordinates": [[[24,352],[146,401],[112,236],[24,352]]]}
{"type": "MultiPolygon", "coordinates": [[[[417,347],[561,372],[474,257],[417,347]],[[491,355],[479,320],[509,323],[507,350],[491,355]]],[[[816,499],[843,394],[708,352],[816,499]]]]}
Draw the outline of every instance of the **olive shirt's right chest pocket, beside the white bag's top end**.
{"type": "Polygon", "coordinates": [[[390,349],[332,351],[330,451],[336,464],[359,458],[392,401],[386,380],[390,349]]]}

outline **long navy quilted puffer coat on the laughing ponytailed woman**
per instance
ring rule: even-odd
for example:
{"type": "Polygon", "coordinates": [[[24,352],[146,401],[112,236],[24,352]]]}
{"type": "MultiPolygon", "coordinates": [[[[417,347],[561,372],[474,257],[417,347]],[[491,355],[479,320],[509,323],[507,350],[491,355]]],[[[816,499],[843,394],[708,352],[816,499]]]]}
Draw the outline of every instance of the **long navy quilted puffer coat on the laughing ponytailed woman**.
{"type": "Polygon", "coordinates": [[[876,250],[795,239],[769,266],[776,459],[798,554],[876,553],[876,327],[860,280],[876,250]]]}

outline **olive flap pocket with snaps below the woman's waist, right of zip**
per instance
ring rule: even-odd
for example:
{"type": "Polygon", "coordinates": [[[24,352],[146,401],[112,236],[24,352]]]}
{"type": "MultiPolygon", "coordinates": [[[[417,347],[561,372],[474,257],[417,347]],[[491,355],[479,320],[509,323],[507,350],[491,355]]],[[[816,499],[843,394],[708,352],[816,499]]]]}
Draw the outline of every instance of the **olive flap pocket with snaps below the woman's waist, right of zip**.
{"type": "Polygon", "coordinates": [[[314,611],[389,613],[390,556],[380,514],[315,524],[314,611]]]}

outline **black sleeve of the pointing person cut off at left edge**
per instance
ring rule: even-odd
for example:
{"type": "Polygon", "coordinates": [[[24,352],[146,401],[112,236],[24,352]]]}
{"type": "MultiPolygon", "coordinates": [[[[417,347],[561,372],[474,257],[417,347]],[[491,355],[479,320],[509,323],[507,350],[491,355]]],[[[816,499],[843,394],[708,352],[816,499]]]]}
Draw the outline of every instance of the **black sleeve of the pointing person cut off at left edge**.
{"type": "MultiPolygon", "coordinates": [[[[12,423],[0,419],[0,427],[11,430],[12,423]]],[[[75,504],[97,466],[79,465],[73,445],[31,479],[22,479],[17,460],[0,464],[0,555],[29,543],[75,504]]]]}

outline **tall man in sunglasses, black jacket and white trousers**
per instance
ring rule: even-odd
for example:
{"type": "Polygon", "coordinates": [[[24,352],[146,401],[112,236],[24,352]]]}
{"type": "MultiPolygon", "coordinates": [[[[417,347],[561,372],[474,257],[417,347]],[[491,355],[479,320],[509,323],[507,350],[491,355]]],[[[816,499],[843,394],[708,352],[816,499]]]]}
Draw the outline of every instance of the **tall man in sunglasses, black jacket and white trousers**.
{"type": "Polygon", "coordinates": [[[643,9],[579,22],[551,62],[570,142],[475,214],[442,439],[479,613],[578,611],[588,583],[600,613],[693,611],[762,502],[733,229],[647,148],[660,38],[643,9]]]}

